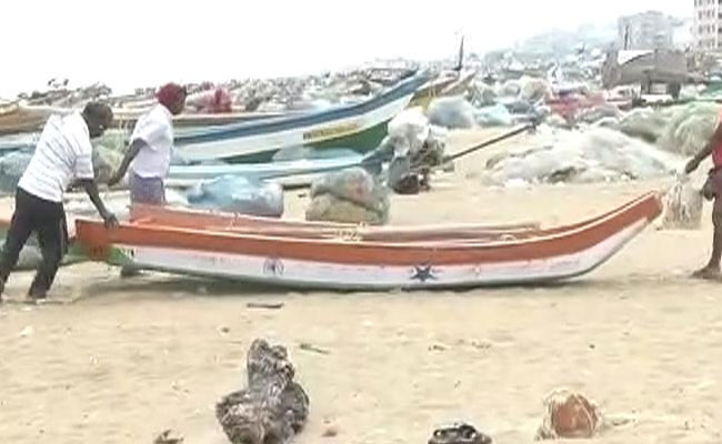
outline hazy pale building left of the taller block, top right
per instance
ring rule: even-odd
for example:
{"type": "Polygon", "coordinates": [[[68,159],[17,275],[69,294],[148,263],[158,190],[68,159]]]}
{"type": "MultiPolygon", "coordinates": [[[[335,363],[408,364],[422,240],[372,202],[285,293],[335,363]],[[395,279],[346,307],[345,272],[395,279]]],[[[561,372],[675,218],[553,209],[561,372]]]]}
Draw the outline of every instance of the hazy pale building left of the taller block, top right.
{"type": "Polygon", "coordinates": [[[658,11],[622,17],[618,21],[616,47],[620,50],[671,49],[680,26],[682,21],[658,11]]]}

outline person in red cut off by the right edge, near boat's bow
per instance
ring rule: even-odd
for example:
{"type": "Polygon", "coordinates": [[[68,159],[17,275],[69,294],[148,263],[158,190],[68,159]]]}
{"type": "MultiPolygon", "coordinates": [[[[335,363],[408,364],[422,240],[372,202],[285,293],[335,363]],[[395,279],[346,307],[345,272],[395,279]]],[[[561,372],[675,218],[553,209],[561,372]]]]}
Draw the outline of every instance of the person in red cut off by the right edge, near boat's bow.
{"type": "Polygon", "coordinates": [[[720,261],[722,260],[722,113],[718,118],[714,134],[706,145],[692,158],[684,171],[689,174],[700,167],[700,163],[712,155],[714,167],[710,170],[706,182],[702,186],[702,195],[706,200],[713,200],[712,223],[714,234],[712,238],[712,255],[708,264],[695,271],[693,278],[722,281],[720,272],[720,261]]]}

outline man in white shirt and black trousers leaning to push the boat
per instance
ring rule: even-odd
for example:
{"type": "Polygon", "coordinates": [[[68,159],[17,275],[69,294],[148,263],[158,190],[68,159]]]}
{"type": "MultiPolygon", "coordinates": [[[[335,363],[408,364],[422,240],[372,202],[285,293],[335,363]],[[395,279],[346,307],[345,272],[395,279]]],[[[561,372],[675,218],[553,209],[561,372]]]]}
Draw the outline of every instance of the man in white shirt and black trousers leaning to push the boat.
{"type": "Polygon", "coordinates": [[[28,238],[38,233],[42,261],[28,297],[42,300],[67,252],[68,228],[62,198],[71,180],[82,185],[107,226],[118,220],[106,209],[94,181],[90,138],[103,134],[113,120],[108,105],[89,103],[82,113],[48,119],[36,152],[16,191],[16,210],[0,254],[0,302],[10,272],[28,238]]]}

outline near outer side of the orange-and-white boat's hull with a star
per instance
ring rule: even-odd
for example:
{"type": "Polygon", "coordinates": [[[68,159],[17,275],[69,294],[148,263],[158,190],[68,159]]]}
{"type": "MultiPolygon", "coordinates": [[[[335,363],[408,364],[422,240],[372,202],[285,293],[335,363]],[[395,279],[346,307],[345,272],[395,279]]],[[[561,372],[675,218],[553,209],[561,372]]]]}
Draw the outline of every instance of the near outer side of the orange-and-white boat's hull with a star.
{"type": "Polygon", "coordinates": [[[339,290],[439,289],[566,280],[591,272],[662,211],[642,195],[600,218],[527,238],[380,242],[77,220],[87,254],[116,265],[339,290]]]}

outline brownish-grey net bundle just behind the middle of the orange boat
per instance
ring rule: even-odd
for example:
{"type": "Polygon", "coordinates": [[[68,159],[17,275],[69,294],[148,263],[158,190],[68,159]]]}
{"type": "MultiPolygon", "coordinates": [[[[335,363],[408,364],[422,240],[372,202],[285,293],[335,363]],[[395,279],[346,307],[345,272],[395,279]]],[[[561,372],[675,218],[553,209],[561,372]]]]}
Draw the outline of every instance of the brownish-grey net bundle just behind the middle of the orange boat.
{"type": "Polygon", "coordinates": [[[389,208],[388,189],[363,168],[354,167],[313,182],[305,219],[382,225],[389,221],[389,208]]]}

